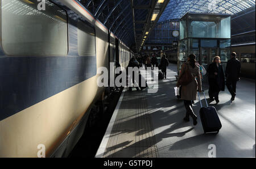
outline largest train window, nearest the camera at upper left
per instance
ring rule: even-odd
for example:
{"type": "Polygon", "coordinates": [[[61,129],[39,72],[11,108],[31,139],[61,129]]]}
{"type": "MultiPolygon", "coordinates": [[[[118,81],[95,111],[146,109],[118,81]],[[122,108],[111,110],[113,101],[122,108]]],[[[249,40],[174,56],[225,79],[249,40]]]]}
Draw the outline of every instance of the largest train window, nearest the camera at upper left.
{"type": "Polygon", "coordinates": [[[56,55],[68,53],[67,13],[46,0],[45,10],[37,1],[2,0],[2,48],[10,55],[56,55]]]}

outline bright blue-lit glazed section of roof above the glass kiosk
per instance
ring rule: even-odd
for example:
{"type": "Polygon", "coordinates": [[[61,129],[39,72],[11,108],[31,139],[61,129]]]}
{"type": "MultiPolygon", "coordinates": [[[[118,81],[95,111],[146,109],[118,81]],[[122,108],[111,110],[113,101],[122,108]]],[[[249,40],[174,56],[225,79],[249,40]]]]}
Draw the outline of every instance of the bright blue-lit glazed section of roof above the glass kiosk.
{"type": "Polygon", "coordinates": [[[180,19],[187,12],[237,14],[255,6],[255,0],[171,0],[158,22],[180,19]]]}

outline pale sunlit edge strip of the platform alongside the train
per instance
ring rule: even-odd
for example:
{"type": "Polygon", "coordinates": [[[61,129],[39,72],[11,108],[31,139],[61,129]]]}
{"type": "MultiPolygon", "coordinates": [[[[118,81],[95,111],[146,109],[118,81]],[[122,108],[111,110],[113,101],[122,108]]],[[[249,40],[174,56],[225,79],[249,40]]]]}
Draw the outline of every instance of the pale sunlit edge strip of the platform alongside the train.
{"type": "Polygon", "coordinates": [[[115,119],[117,117],[117,113],[119,111],[119,107],[120,107],[120,105],[122,103],[123,96],[125,95],[126,88],[127,87],[123,88],[122,94],[121,94],[121,96],[120,96],[120,98],[118,100],[118,103],[117,103],[116,107],[115,107],[115,110],[114,110],[112,118],[111,118],[111,120],[109,122],[108,128],[106,129],[104,137],[103,137],[103,139],[101,141],[100,147],[98,147],[97,153],[95,155],[96,158],[103,158],[104,157],[104,153],[106,151],[106,148],[107,148],[107,145],[108,145],[108,141],[109,141],[109,138],[111,136],[112,128],[114,126],[114,122],[115,122],[115,119]]]}

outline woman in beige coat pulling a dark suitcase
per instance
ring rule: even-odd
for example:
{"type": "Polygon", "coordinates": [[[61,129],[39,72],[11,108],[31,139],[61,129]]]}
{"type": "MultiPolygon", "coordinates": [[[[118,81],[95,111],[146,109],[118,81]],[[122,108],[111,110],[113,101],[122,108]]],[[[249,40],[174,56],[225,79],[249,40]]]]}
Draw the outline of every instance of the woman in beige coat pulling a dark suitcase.
{"type": "Polygon", "coordinates": [[[190,54],[188,56],[187,62],[182,64],[179,78],[176,83],[176,87],[179,87],[180,78],[182,77],[182,75],[185,74],[186,71],[190,71],[192,73],[193,81],[188,83],[187,85],[182,86],[181,99],[184,100],[184,106],[187,110],[183,120],[189,121],[189,115],[190,115],[193,119],[193,125],[197,124],[197,116],[195,115],[192,109],[192,100],[197,99],[197,90],[199,92],[202,91],[200,69],[199,69],[199,66],[196,65],[195,58],[196,58],[195,54],[190,54]]]}

